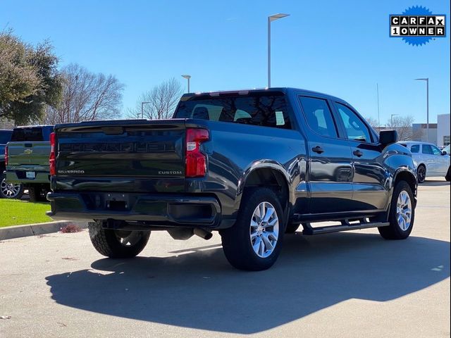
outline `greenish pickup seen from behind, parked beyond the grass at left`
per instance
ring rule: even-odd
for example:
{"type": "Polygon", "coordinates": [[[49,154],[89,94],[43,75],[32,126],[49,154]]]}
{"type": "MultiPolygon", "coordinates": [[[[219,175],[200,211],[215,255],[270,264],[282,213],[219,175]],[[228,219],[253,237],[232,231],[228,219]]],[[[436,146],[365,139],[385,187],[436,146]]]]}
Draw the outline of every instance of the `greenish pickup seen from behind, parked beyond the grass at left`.
{"type": "Polygon", "coordinates": [[[13,129],[6,146],[6,181],[28,189],[30,201],[47,201],[50,190],[49,154],[53,125],[33,125],[13,129]]]}

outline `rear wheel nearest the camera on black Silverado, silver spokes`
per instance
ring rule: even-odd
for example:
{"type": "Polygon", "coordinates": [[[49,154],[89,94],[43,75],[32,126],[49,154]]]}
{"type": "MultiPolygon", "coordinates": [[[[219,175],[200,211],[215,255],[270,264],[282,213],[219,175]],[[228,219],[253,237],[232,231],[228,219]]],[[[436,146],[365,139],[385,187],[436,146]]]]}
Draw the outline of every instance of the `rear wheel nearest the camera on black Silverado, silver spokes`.
{"type": "Polygon", "coordinates": [[[284,233],[283,211],[271,189],[254,189],[242,199],[237,222],[221,230],[223,251],[240,270],[266,270],[276,262],[284,233]]]}

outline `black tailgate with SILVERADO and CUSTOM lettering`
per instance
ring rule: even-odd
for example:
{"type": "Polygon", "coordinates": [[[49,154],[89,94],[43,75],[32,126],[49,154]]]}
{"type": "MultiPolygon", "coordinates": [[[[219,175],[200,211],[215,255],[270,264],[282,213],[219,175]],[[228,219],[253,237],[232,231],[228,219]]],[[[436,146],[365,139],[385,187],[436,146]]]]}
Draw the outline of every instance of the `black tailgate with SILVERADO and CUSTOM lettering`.
{"type": "Polygon", "coordinates": [[[185,120],[57,125],[56,190],[183,192],[185,120]]]}

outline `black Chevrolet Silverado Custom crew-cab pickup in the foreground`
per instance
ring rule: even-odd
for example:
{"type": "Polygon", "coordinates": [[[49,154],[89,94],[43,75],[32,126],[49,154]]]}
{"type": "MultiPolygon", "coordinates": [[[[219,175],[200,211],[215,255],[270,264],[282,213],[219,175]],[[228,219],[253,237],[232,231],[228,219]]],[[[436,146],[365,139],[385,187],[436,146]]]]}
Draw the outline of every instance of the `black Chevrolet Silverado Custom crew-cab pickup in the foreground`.
{"type": "Polygon", "coordinates": [[[52,218],[94,220],[95,249],[136,256],[151,231],[212,230],[228,261],[264,270],[285,233],[412,232],[416,174],[393,130],[347,102],[292,88],[185,94],[172,119],[56,125],[52,218]],[[317,225],[335,221],[335,225],[317,225]]]}

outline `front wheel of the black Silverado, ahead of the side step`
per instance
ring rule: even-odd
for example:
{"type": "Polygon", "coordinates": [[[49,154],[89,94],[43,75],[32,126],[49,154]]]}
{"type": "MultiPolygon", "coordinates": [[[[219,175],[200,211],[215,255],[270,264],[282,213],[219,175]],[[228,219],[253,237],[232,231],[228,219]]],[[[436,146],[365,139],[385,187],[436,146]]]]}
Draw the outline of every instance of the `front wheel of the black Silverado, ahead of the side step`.
{"type": "Polygon", "coordinates": [[[378,227],[385,239],[406,239],[414,227],[415,206],[414,194],[409,184],[400,181],[393,191],[387,227],[378,227]]]}

